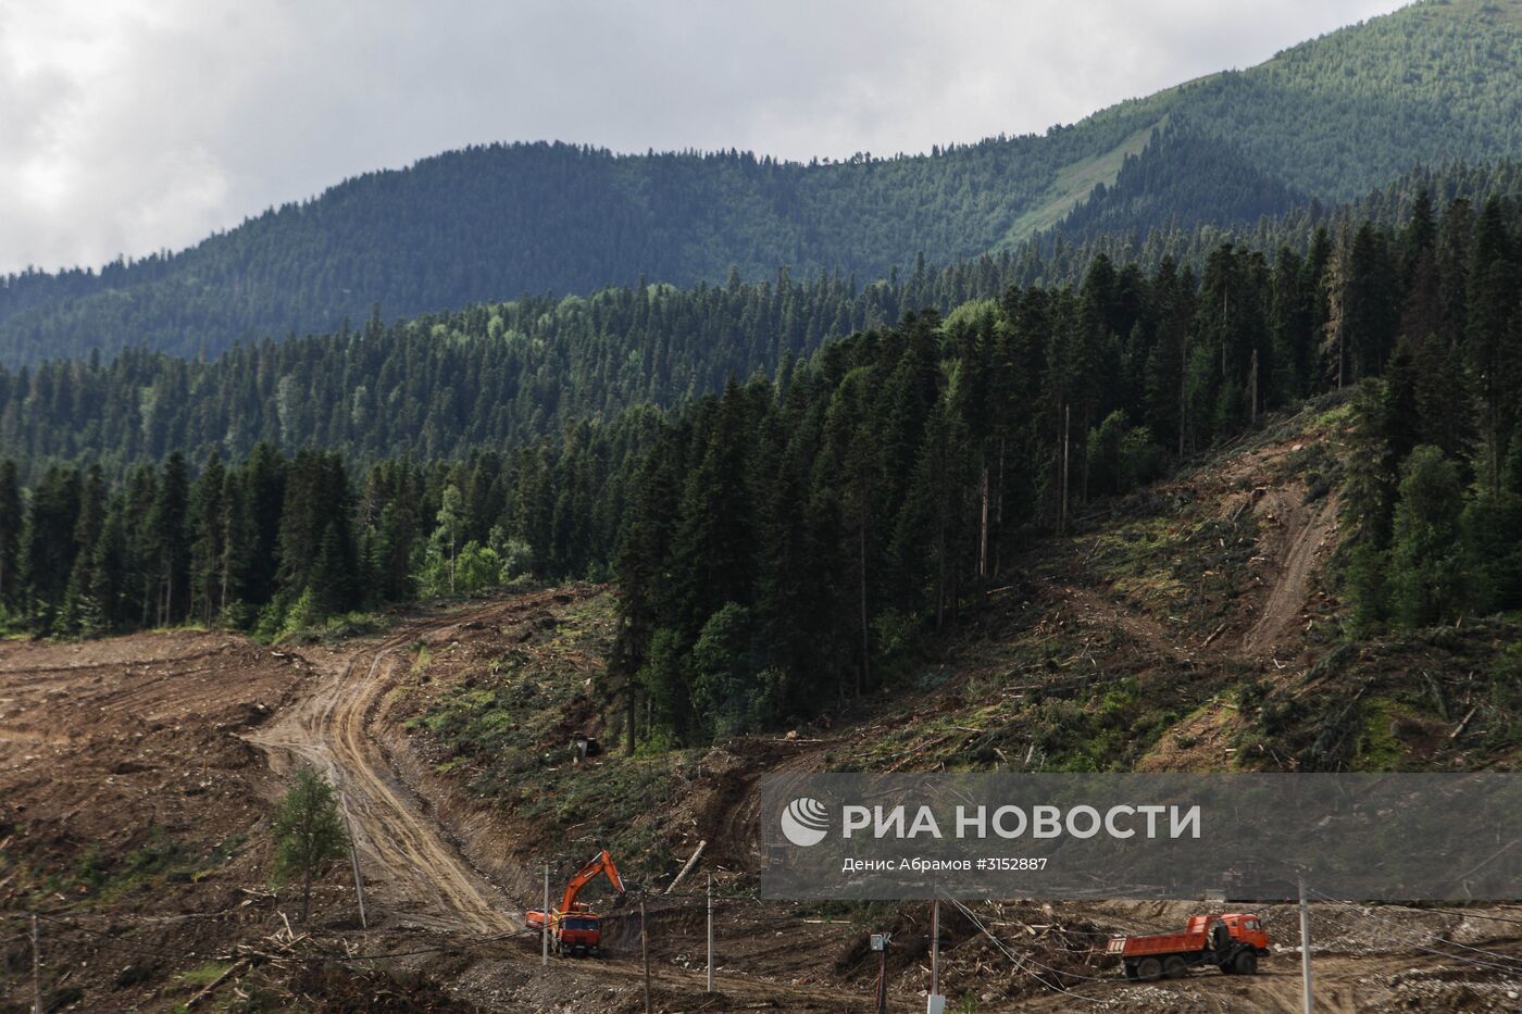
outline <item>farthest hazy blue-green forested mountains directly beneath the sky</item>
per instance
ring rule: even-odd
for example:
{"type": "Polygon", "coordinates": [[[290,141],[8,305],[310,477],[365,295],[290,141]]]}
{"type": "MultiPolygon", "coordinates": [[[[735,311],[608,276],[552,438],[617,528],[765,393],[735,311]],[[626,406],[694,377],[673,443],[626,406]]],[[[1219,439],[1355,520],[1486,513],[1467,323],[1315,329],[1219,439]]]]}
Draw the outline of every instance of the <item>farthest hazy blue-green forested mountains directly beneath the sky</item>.
{"type": "Polygon", "coordinates": [[[376,303],[414,315],[641,276],[718,282],[731,266],[750,280],[779,265],[875,279],[919,253],[950,263],[1017,247],[1114,184],[1154,136],[1219,157],[1190,158],[1190,195],[1166,174],[1132,174],[1119,187],[1140,195],[1097,201],[1105,215],[1073,225],[1138,228],[1164,212],[1239,224],[1364,193],[1414,161],[1522,154],[1519,67],[1522,0],[1429,0],[1044,136],[930,155],[470,148],[349,180],[178,254],[12,276],[0,362],[123,346],[216,355],[239,338],[338,330],[376,303]]]}

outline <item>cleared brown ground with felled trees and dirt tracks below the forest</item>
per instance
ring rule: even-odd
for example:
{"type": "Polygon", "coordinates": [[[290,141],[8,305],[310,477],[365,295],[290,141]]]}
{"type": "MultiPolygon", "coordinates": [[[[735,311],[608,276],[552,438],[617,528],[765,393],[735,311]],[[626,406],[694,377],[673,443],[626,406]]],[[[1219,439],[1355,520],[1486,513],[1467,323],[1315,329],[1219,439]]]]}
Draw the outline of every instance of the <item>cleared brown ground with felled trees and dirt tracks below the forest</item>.
{"type": "MultiPolygon", "coordinates": [[[[30,1009],[32,912],[50,1009],[641,1011],[638,903],[604,907],[603,958],[543,965],[522,926],[542,865],[559,888],[601,845],[644,900],[656,1009],[871,1011],[868,935],[892,932],[889,1009],[921,1011],[927,903],[755,900],[761,775],[1295,769],[1312,732],[1353,769],[1514,766],[1473,678],[1514,639],[1505,620],[1338,647],[1339,425],[1280,420],[1096,505],[906,661],[898,693],[700,749],[624,755],[598,703],[615,603],[597,585],[329,644],[0,643],[0,1011],[30,1009]],[[577,734],[601,749],[581,758],[577,734]],[[271,813],[303,764],[342,793],[367,927],[347,863],[304,924],[271,877],[271,813]]],[[[1012,900],[970,904],[974,924],[945,906],[951,1009],[1301,1009],[1295,906],[1256,909],[1277,953],[1254,977],[1134,984],[1094,953],[1201,907],[1012,900]]],[[[1522,1009],[1522,906],[1317,903],[1312,939],[1318,1011],[1522,1009]]]]}

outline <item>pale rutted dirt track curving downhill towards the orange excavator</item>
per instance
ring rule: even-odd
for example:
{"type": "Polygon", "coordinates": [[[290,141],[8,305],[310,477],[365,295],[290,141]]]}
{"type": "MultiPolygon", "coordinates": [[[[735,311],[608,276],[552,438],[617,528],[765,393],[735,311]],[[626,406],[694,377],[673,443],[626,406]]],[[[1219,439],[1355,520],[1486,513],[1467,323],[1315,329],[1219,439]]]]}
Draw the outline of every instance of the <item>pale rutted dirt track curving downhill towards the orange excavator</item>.
{"type": "Polygon", "coordinates": [[[405,906],[417,923],[493,935],[521,929],[507,901],[425,815],[391,770],[368,723],[400,664],[399,650],[461,623],[499,612],[501,604],[447,620],[409,624],[403,633],[361,649],[336,676],[283,708],[248,741],[271,754],[279,770],[289,758],[318,767],[344,795],[367,880],[384,883],[387,907],[405,906]]]}

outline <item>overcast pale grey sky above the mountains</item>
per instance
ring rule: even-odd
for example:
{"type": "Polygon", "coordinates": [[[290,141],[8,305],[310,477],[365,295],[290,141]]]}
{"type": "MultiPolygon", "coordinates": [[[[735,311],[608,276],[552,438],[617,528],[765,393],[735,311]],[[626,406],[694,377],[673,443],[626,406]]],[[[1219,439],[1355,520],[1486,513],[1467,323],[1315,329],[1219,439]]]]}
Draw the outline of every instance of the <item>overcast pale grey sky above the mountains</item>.
{"type": "Polygon", "coordinates": [[[1041,131],[1403,0],[0,0],[0,271],[492,140],[794,158],[1041,131]]]}

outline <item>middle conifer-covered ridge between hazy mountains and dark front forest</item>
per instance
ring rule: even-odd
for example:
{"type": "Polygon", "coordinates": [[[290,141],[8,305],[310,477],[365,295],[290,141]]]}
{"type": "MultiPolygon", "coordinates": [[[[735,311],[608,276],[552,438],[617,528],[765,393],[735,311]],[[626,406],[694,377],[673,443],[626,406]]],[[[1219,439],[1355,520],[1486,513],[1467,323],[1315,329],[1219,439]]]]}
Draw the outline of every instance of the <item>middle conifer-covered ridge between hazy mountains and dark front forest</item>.
{"type": "MultiPolygon", "coordinates": [[[[1114,202],[1169,218],[1143,233],[1100,231],[1070,242],[1061,233],[1018,254],[939,268],[916,263],[860,285],[820,273],[766,282],[622,286],[589,297],[478,303],[396,324],[377,318],[335,333],[237,346],[216,359],[128,349],[108,359],[56,359],[0,367],[0,457],[21,461],[23,481],[49,460],[99,461],[120,475],[139,461],[183,451],[242,457],[268,442],[286,452],[321,446],[358,461],[384,457],[460,458],[609,420],[641,403],[674,408],[718,391],[726,378],[773,373],[829,336],[890,326],[909,311],[942,314],[1011,286],[1078,285],[1105,254],[1128,276],[1164,259],[1198,276],[1225,244],[1277,263],[1312,250],[1350,253],[1368,221],[1391,230],[1419,204],[1478,209],[1522,192],[1522,163],[1417,169],[1347,206],[1298,206],[1253,225],[1184,228],[1175,190],[1137,204],[1137,177],[1166,174],[1169,152],[1134,160],[1120,183],[1073,218],[1103,219],[1114,202]]],[[[1143,201],[1149,198],[1142,198],[1143,201]]],[[[1457,221],[1457,219],[1455,219],[1457,221]]]]}

